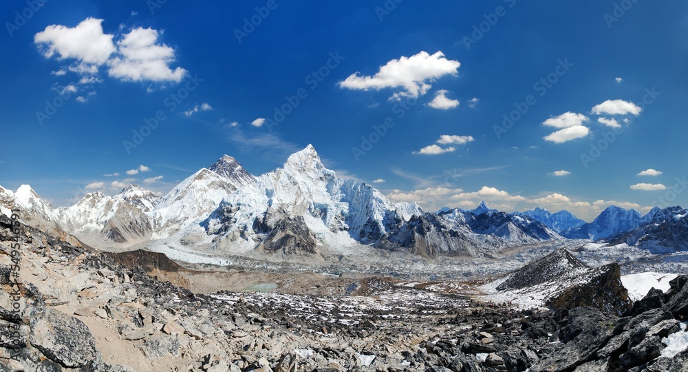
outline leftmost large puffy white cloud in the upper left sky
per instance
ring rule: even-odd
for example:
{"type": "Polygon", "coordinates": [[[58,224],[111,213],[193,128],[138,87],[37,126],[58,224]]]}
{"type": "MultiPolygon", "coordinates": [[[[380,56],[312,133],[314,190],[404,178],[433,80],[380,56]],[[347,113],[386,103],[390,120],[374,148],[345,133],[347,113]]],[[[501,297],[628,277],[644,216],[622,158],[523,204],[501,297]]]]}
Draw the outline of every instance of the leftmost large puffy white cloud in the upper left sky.
{"type": "Polygon", "coordinates": [[[103,33],[103,19],[89,17],[74,28],[49,25],[34,35],[34,43],[45,58],[76,59],[89,65],[102,65],[115,52],[114,35],[103,33]]]}

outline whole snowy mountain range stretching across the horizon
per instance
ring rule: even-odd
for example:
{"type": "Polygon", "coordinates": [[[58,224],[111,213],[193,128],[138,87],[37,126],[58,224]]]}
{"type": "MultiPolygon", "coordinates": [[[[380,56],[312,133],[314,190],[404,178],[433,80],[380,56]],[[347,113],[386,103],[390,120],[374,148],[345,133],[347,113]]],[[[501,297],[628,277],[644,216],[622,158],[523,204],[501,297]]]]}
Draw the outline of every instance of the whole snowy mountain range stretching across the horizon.
{"type": "Polygon", "coordinates": [[[347,253],[368,247],[420,256],[497,257],[506,247],[565,240],[610,240],[655,251],[687,249],[685,209],[637,211],[608,207],[592,223],[568,211],[508,214],[484,202],[475,209],[433,213],[416,203],[391,203],[365,183],[340,178],[314,147],[253,176],[223,156],[162,198],[129,185],[116,196],[86,194],[54,209],[30,186],[0,187],[0,209],[23,209],[25,222],[65,239],[108,250],[156,247],[176,259],[193,256],[347,253]]]}

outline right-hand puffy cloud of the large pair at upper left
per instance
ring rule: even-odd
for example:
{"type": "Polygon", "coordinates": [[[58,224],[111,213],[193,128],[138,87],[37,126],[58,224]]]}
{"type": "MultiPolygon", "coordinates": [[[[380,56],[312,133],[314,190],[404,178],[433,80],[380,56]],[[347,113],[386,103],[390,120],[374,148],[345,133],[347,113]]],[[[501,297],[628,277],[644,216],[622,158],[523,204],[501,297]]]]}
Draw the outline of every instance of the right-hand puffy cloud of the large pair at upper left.
{"type": "Polygon", "coordinates": [[[183,68],[172,70],[173,48],[156,44],[160,34],[152,28],[134,28],[117,42],[118,56],[108,61],[109,76],[123,81],[172,81],[186,75],[183,68]]]}

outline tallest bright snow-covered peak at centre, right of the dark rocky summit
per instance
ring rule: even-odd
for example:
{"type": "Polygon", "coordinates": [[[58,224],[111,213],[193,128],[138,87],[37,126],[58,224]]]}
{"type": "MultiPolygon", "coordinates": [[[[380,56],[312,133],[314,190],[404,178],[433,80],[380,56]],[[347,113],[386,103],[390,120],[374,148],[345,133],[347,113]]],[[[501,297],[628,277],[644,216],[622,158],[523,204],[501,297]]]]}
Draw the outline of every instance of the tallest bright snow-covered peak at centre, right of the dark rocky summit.
{"type": "Polygon", "coordinates": [[[297,251],[316,252],[316,245],[372,244],[420,212],[400,207],[372,186],[337,177],[309,145],[228,194],[202,225],[224,249],[273,251],[294,242],[297,251]]]}

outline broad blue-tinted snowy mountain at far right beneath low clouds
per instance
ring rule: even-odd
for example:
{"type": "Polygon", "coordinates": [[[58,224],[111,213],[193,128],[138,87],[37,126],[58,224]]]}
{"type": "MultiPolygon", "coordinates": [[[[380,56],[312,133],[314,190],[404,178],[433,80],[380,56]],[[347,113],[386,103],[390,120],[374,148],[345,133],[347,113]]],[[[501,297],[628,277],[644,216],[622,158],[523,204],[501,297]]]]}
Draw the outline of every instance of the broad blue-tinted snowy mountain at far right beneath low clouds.
{"type": "Polygon", "coordinates": [[[561,233],[566,238],[601,240],[630,231],[643,223],[635,209],[623,209],[612,205],[603,210],[592,223],[568,229],[561,233]]]}

